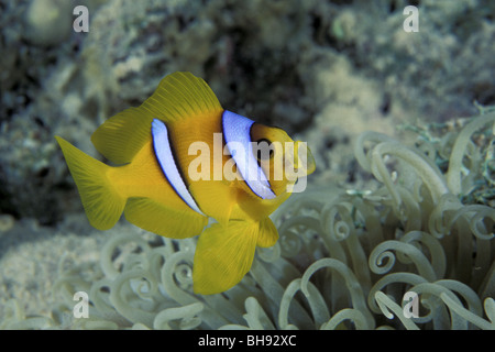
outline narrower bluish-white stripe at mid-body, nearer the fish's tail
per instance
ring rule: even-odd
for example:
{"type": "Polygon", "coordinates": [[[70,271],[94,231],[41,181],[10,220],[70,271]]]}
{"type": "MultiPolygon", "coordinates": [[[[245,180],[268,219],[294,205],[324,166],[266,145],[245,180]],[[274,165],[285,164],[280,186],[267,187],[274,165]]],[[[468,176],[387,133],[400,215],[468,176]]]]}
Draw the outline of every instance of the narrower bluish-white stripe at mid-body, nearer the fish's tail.
{"type": "Polygon", "coordinates": [[[155,150],[155,155],[158,161],[162,172],[164,173],[166,179],[174,188],[175,193],[195,211],[199,212],[201,216],[205,213],[199,209],[191,194],[186,187],[183,177],[175,163],[174,155],[172,154],[170,142],[168,140],[168,131],[165,123],[158,119],[154,119],[152,122],[152,136],[153,136],[153,147],[155,150]]]}

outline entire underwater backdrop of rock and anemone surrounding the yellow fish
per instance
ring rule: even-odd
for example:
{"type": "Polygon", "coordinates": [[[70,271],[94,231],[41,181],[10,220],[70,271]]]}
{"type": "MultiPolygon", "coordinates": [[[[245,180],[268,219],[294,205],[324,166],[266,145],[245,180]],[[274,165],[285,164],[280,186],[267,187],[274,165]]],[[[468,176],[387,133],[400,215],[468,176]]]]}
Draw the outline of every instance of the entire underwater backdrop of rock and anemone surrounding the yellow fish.
{"type": "Polygon", "coordinates": [[[0,0],[0,328],[495,329],[494,1],[0,0]],[[213,296],[196,239],[92,229],[54,139],[101,160],[91,133],[177,70],[317,163],[213,296]]]}

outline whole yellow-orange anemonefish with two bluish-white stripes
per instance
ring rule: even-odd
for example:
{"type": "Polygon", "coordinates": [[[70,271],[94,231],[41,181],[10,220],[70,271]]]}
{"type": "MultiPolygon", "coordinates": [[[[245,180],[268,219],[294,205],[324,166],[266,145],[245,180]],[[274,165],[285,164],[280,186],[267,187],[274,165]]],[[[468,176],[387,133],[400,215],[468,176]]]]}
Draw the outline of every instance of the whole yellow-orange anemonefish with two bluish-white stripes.
{"type": "Polygon", "coordinates": [[[223,110],[210,87],[190,73],[166,76],[139,108],[95,131],[91,142],[116,166],[56,140],[95,228],[112,228],[123,212],[160,235],[200,234],[193,286],[204,295],[237,285],[250,271],[256,245],[276,243],[268,216],[289,197],[297,177],[315,169],[305,143],[223,110]]]}

